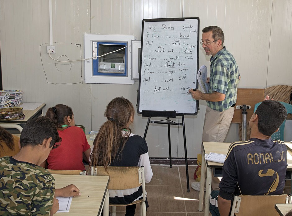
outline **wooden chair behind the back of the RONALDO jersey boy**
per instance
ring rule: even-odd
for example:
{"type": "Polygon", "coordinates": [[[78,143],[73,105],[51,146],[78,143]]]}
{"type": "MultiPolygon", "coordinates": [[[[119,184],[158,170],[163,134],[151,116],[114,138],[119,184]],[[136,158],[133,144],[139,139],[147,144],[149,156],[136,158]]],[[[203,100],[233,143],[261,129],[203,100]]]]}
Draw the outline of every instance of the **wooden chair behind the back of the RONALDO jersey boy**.
{"type": "Polygon", "coordinates": [[[288,203],[289,200],[289,196],[286,194],[262,196],[235,195],[230,215],[279,215],[275,209],[275,204],[288,203]]]}

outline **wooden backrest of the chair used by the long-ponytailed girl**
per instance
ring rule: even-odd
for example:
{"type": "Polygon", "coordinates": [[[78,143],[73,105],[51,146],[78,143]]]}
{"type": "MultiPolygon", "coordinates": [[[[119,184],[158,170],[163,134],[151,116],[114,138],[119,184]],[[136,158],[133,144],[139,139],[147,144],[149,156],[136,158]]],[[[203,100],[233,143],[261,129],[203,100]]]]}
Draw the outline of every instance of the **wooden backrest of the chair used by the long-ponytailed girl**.
{"type": "Polygon", "coordinates": [[[95,171],[91,167],[91,175],[110,176],[108,183],[110,190],[135,188],[141,186],[143,182],[141,167],[107,167],[106,171],[103,166],[97,166],[95,171]]]}

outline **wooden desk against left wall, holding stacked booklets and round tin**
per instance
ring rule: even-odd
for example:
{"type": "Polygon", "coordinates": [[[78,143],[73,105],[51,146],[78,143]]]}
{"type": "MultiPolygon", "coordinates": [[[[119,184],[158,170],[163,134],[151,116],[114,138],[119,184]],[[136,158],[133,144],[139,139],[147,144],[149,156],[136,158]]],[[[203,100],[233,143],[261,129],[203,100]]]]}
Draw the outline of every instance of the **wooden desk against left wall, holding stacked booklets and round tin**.
{"type": "Polygon", "coordinates": [[[0,126],[3,128],[16,128],[21,132],[23,128],[19,124],[25,124],[28,120],[34,118],[36,115],[41,115],[44,106],[46,106],[46,104],[42,103],[34,110],[22,110],[22,113],[25,115],[24,119],[0,120],[0,126]]]}

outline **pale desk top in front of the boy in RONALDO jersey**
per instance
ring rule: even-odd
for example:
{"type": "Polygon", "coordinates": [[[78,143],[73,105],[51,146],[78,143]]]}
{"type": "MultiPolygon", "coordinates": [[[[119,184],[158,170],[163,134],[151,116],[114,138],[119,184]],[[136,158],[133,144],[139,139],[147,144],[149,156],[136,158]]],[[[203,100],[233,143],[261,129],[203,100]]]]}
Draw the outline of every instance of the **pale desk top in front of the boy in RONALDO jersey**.
{"type": "MultiPolygon", "coordinates": [[[[206,154],[210,152],[218,154],[227,154],[228,148],[231,143],[215,143],[215,142],[203,142],[203,149],[206,154]]],[[[292,143],[285,141],[287,146],[287,169],[292,169],[292,143]]],[[[222,168],[223,163],[217,163],[212,161],[206,161],[207,167],[222,168]]]]}

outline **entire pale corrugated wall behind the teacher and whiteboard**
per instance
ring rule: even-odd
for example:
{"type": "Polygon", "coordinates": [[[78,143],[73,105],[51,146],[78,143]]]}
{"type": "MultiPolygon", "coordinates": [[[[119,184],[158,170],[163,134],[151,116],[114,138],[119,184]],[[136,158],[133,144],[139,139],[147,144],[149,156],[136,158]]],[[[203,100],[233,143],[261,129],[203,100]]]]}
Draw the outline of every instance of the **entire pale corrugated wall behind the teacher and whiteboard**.
{"type": "MultiPolygon", "coordinates": [[[[52,57],[83,58],[84,33],[130,34],[140,40],[142,19],[199,17],[200,30],[210,25],[223,29],[224,44],[240,68],[240,88],[291,85],[291,9],[291,0],[52,0],[52,57]]],[[[56,64],[49,59],[48,0],[0,0],[0,31],[3,87],[24,90],[24,101],[44,102],[45,111],[58,103],[71,106],[76,124],[87,132],[105,121],[112,98],[124,96],[137,103],[138,82],[85,84],[82,62],[56,64]]],[[[209,57],[200,49],[203,64],[209,68],[209,57]]],[[[200,152],[205,109],[200,101],[198,115],[185,116],[189,157],[200,152]]],[[[143,136],[146,123],[147,118],[136,115],[134,133],[143,136]]],[[[232,124],[226,142],[238,139],[238,126],[232,124]]],[[[168,157],[167,126],[150,125],[146,141],[150,157],[168,157]]],[[[171,142],[172,156],[183,157],[181,127],[171,126],[171,142]]]]}

